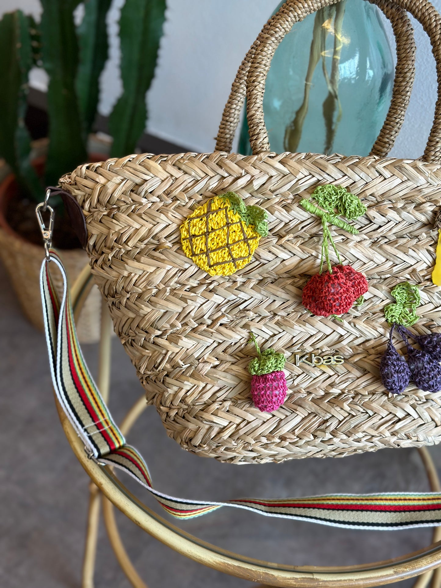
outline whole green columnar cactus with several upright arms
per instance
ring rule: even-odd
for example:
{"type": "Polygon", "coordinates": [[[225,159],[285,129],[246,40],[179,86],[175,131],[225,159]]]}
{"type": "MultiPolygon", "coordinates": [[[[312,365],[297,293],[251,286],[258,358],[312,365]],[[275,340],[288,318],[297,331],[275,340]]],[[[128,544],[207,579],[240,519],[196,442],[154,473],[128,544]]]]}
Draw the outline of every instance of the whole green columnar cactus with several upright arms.
{"type": "MultiPolygon", "coordinates": [[[[0,21],[0,157],[11,166],[22,192],[41,201],[44,184],[87,160],[86,141],[95,121],[99,76],[107,59],[106,13],[111,0],[85,0],[75,28],[80,0],[41,0],[37,25],[21,11],[0,21]],[[24,119],[28,75],[42,65],[48,76],[49,148],[44,183],[30,161],[31,144],[24,119]]],[[[111,115],[113,152],[132,152],[145,128],[145,92],[155,72],[165,0],[126,0],[120,38],[124,91],[111,115]]]]}

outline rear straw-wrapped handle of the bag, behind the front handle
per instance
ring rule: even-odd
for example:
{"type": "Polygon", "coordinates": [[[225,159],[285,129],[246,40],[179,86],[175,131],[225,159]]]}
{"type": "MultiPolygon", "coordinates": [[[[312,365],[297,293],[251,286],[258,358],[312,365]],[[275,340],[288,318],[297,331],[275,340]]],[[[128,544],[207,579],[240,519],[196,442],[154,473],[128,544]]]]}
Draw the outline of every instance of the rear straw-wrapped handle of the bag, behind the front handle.
{"type": "MultiPolygon", "coordinates": [[[[395,68],[392,100],[390,102],[385,123],[383,124],[380,134],[370,152],[371,155],[384,157],[389,153],[390,149],[392,149],[393,143],[395,143],[395,139],[403,125],[407,105],[409,105],[410,93],[412,92],[413,80],[415,78],[416,47],[413,39],[412,25],[410,24],[406,12],[402,8],[389,0],[369,1],[372,2],[372,4],[379,6],[385,16],[389,19],[396,40],[397,64],[395,68]]],[[[286,2],[286,4],[290,4],[290,2],[286,2]]],[[[232,85],[228,102],[223,110],[222,121],[220,121],[219,132],[216,137],[216,151],[231,151],[233,138],[239,123],[240,112],[242,111],[243,102],[245,101],[246,78],[249,66],[255,57],[256,48],[260,45],[260,42],[265,41],[268,38],[268,35],[271,34],[270,29],[272,28],[273,23],[277,22],[280,18],[280,12],[285,8],[286,4],[283,5],[279,12],[273,15],[265,24],[258,38],[246,54],[245,59],[243,59],[242,64],[240,64],[235,81],[232,85]]],[[[326,5],[328,4],[335,4],[335,2],[327,2],[326,5]]],[[[314,10],[311,10],[310,12],[313,12],[314,10]]],[[[304,16],[306,16],[306,14],[303,14],[302,18],[304,18],[304,16]]],[[[302,18],[298,18],[298,20],[301,20],[302,18]]],[[[291,26],[289,26],[289,29],[286,32],[289,32],[291,26]]],[[[285,33],[283,36],[285,36],[285,33]]],[[[280,39],[280,41],[281,40],[282,39],[280,39]]],[[[266,73],[268,73],[268,71],[266,73]]]]}

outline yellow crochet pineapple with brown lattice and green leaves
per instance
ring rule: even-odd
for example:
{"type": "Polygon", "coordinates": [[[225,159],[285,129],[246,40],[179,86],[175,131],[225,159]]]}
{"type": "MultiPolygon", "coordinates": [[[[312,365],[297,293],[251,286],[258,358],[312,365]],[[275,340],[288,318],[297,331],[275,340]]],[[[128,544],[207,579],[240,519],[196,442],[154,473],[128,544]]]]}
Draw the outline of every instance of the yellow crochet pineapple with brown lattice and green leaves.
{"type": "Polygon", "coordinates": [[[209,275],[229,276],[250,262],[260,237],[268,235],[266,218],[235,192],[215,196],[182,223],[182,248],[209,275]]]}

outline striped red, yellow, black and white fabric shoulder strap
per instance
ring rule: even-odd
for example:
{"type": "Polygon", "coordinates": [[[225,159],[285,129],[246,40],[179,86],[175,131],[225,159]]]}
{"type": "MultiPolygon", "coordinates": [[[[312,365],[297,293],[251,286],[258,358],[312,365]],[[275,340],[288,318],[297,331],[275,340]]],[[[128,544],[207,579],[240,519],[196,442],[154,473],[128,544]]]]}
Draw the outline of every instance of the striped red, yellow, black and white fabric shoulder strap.
{"type": "Polygon", "coordinates": [[[441,494],[337,494],[281,500],[237,499],[227,502],[188,500],[168,496],[152,487],[148,467],[134,447],[127,445],[102,400],[79,348],[66,272],[54,249],[51,262],[61,270],[64,293],[58,295],[49,275],[50,262],[41,268],[41,297],[46,342],[56,396],[85,451],[101,465],[119,467],[140,482],[174,517],[191,519],[222,506],[252,510],[265,516],[308,520],[353,529],[404,529],[441,524],[441,494]]]}

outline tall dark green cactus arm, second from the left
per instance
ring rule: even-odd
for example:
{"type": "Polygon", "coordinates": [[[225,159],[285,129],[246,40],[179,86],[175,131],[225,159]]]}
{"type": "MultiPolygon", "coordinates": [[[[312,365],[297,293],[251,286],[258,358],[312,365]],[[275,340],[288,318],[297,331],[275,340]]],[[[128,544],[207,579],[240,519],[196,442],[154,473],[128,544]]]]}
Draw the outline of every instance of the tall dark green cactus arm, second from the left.
{"type": "Polygon", "coordinates": [[[46,185],[87,159],[82,136],[75,77],[78,67],[78,42],[74,9],[79,0],[41,0],[42,61],[49,75],[49,149],[46,185]]]}

